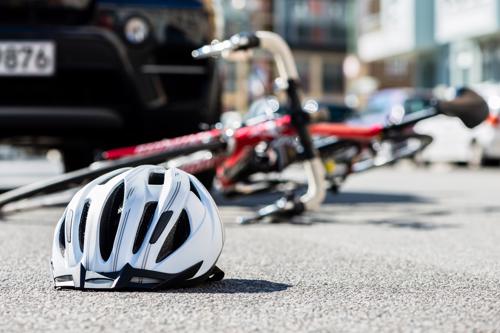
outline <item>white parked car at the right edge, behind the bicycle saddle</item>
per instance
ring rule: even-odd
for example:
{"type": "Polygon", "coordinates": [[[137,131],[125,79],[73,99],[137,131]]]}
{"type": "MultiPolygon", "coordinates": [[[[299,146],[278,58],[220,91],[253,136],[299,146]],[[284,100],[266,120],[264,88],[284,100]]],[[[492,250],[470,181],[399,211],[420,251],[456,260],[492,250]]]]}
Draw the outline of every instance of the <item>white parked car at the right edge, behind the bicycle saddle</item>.
{"type": "Polygon", "coordinates": [[[488,101],[490,116],[468,129],[456,118],[438,116],[419,122],[415,131],[431,135],[434,141],[422,152],[423,162],[453,162],[473,167],[500,161],[500,91],[478,90],[488,101]]]}

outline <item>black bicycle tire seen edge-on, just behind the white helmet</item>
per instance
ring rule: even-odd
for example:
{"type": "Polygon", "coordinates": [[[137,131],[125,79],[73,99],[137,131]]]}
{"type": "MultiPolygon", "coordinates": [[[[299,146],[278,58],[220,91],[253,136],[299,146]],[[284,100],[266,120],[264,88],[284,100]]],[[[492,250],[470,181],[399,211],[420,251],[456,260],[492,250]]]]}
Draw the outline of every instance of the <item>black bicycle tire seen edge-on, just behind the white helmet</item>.
{"type": "Polygon", "coordinates": [[[195,153],[197,151],[217,151],[224,149],[225,146],[226,144],[222,141],[212,141],[150,155],[126,157],[118,160],[99,162],[98,167],[90,166],[75,170],[51,179],[42,180],[2,193],[0,194],[0,209],[12,202],[28,199],[36,195],[54,193],[81,185],[87,180],[96,178],[116,169],[136,167],[142,164],[159,164],[173,158],[195,153]]]}

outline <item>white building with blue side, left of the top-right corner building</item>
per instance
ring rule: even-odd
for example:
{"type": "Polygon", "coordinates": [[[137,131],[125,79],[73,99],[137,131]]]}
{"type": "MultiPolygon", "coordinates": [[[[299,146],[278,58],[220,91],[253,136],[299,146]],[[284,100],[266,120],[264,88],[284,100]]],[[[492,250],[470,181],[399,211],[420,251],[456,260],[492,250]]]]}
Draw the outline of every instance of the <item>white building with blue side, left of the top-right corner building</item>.
{"type": "Polygon", "coordinates": [[[435,83],[432,0],[356,2],[357,54],[380,87],[435,83]]]}

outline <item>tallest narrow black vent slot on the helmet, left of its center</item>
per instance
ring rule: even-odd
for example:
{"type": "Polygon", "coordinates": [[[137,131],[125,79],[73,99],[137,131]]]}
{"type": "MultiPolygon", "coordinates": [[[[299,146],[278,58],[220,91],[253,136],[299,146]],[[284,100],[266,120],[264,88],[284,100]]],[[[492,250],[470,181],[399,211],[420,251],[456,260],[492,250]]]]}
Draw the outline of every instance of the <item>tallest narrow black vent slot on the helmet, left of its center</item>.
{"type": "Polygon", "coordinates": [[[99,230],[99,248],[101,249],[101,257],[104,261],[109,259],[113,250],[116,232],[120,224],[122,216],[123,199],[125,185],[118,185],[109,196],[101,216],[99,230]]]}

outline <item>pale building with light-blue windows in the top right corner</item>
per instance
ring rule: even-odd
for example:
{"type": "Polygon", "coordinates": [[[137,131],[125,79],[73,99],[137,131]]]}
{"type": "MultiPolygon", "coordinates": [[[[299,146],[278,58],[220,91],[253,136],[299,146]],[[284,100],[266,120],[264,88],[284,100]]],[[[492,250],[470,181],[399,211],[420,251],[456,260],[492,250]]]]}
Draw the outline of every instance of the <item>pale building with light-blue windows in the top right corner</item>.
{"type": "Polygon", "coordinates": [[[436,0],[436,43],[448,46],[438,74],[451,85],[500,82],[500,1],[436,0]]]}

